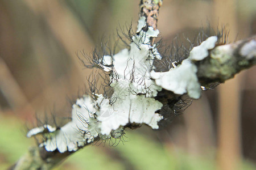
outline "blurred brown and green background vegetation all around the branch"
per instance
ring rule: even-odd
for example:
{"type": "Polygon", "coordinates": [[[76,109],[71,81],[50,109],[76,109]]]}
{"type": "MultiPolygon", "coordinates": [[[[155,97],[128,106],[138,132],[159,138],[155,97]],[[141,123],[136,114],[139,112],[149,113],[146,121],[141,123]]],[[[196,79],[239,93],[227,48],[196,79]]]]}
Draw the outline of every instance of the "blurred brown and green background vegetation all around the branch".
{"type": "MultiPolygon", "coordinates": [[[[26,126],[37,124],[35,113],[44,117],[51,112],[61,123],[67,121],[72,103],[68,101],[84,94],[86,77],[92,72],[81,65],[77,54],[82,57],[84,50],[89,55],[102,37],[112,37],[118,27],[132,23],[135,28],[138,3],[0,1],[0,169],[10,167],[35,145],[25,137],[26,126]]],[[[164,0],[158,28],[163,42],[171,44],[177,33],[192,36],[189,32],[207,22],[213,28],[224,23],[230,29],[230,42],[255,35],[256,1],[164,0]]],[[[166,127],[128,131],[125,145],[86,147],[56,169],[216,169],[236,158],[242,163],[240,169],[256,169],[255,67],[234,80],[231,85],[225,83],[225,90],[205,92],[166,127]],[[229,103],[223,103],[217,91],[228,97],[229,103]],[[222,106],[231,112],[226,113],[230,115],[226,122],[221,122],[218,114],[222,106]],[[220,135],[222,125],[238,138],[220,135]],[[220,141],[236,143],[237,148],[227,153],[220,141]],[[218,159],[218,153],[225,153],[225,158],[218,159]]]]}

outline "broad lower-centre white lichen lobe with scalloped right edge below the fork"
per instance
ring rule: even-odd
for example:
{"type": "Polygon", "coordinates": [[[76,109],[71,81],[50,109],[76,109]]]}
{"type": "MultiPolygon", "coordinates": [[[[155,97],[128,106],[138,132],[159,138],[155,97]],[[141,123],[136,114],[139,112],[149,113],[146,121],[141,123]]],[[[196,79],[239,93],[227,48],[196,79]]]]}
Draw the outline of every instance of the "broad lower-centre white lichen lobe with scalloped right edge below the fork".
{"type": "Polygon", "coordinates": [[[112,96],[118,97],[112,105],[109,104],[109,99],[99,95],[97,103],[101,108],[96,112],[96,118],[100,121],[101,134],[109,135],[112,130],[129,123],[147,124],[158,129],[157,122],[162,117],[155,112],[162,108],[162,103],[144,95],[133,94],[129,85],[132,86],[125,79],[112,83],[112,96]]]}

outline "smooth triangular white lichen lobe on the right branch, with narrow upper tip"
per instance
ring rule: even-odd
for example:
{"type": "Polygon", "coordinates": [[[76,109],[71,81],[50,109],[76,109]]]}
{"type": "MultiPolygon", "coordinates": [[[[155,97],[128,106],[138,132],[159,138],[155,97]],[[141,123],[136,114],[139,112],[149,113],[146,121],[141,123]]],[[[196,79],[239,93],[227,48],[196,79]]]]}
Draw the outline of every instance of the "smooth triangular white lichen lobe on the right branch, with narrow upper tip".
{"type": "Polygon", "coordinates": [[[209,37],[199,46],[195,46],[189,53],[189,57],[184,59],[180,65],[164,73],[151,72],[151,78],[155,79],[158,86],[170,90],[177,95],[188,94],[193,99],[201,96],[201,85],[197,79],[197,67],[193,61],[199,61],[208,56],[209,49],[213,49],[217,36],[209,37]]]}

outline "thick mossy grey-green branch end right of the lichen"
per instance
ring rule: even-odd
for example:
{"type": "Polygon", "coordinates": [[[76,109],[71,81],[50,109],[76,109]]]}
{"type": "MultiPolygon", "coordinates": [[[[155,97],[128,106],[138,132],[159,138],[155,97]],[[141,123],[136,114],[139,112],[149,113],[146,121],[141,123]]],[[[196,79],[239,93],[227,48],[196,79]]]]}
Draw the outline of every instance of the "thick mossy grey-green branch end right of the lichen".
{"type": "Polygon", "coordinates": [[[256,36],[249,39],[220,45],[210,51],[210,55],[196,62],[197,77],[202,86],[231,79],[243,69],[256,63],[256,36]]]}

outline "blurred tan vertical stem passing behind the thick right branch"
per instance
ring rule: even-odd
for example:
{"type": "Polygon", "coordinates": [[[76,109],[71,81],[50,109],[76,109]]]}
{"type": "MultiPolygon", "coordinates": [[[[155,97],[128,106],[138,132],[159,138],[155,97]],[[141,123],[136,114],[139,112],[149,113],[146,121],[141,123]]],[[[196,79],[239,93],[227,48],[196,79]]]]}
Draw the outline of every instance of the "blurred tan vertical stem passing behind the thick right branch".
{"type": "MultiPolygon", "coordinates": [[[[229,25],[229,40],[234,41],[238,33],[234,0],[214,0],[216,23],[229,25]]],[[[239,33],[240,34],[240,33],[239,33]]],[[[241,159],[241,76],[218,88],[218,150],[217,166],[221,170],[236,170],[241,159]]]]}

